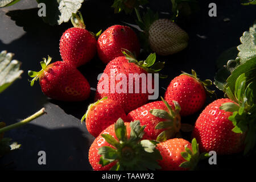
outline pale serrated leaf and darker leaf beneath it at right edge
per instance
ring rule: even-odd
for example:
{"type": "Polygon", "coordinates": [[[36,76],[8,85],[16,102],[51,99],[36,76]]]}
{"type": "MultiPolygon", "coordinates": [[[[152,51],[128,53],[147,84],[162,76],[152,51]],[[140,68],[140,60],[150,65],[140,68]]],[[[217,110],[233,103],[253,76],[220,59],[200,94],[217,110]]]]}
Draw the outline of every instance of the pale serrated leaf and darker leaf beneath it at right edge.
{"type": "MultiPolygon", "coordinates": [[[[255,68],[256,57],[256,24],[250,27],[249,31],[243,32],[243,36],[240,40],[242,44],[237,47],[238,54],[234,48],[230,48],[220,56],[222,60],[230,60],[227,61],[224,67],[218,70],[214,78],[214,85],[216,85],[218,89],[225,92],[226,88],[230,86],[233,94],[234,85],[236,84],[238,76],[245,72],[247,72],[247,75],[249,74],[249,77],[254,75],[253,70],[255,68]]],[[[221,62],[222,61],[218,60],[219,64],[221,62]]]]}

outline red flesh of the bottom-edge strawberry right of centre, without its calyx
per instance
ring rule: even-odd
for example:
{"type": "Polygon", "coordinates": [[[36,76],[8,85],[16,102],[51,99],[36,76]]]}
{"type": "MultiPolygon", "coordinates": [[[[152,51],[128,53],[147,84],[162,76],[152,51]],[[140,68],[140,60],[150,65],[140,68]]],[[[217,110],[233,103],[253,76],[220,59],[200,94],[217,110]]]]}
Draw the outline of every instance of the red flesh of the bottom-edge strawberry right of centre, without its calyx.
{"type": "Polygon", "coordinates": [[[168,139],[165,142],[157,144],[156,148],[162,155],[159,166],[162,171],[187,171],[187,168],[179,167],[185,159],[181,156],[181,152],[185,152],[185,146],[192,150],[191,143],[182,138],[168,139]]]}

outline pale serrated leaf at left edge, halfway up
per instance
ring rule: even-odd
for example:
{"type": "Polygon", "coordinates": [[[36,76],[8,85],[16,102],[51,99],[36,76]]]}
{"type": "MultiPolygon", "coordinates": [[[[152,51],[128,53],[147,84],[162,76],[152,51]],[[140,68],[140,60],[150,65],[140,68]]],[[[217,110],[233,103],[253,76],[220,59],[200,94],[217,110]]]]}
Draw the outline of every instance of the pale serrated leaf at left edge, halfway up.
{"type": "Polygon", "coordinates": [[[21,63],[13,59],[13,53],[0,53],[0,93],[10,86],[23,73],[21,63]]]}

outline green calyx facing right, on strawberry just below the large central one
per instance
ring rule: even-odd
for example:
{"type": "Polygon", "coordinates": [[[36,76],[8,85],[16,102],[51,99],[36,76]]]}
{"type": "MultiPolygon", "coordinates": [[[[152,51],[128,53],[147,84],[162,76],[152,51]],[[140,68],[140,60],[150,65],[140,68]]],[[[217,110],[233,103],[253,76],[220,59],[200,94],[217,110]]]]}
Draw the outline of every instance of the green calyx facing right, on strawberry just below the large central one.
{"type": "Polygon", "coordinates": [[[180,105],[176,101],[173,101],[175,109],[172,109],[172,107],[163,99],[163,97],[161,98],[164,104],[166,105],[168,112],[162,109],[150,110],[150,113],[155,117],[166,119],[165,121],[159,122],[155,126],[156,130],[166,129],[162,133],[160,133],[156,138],[156,141],[158,142],[164,142],[167,139],[174,138],[181,129],[179,114],[180,105]]]}

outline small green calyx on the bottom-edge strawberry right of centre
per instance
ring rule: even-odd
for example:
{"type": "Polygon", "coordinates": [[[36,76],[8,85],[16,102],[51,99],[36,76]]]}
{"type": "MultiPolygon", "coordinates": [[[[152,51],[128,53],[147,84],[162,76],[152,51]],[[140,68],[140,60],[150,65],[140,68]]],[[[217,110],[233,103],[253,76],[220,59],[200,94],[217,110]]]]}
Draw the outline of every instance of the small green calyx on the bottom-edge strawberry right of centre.
{"type": "Polygon", "coordinates": [[[207,152],[203,152],[200,154],[199,152],[199,144],[196,142],[196,139],[193,138],[191,142],[192,151],[190,148],[185,146],[185,152],[181,152],[181,156],[186,161],[180,164],[180,167],[188,168],[189,170],[194,170],[197,167],[197,164],[200,160],[209,158],[209,154],[207,152]]]}

